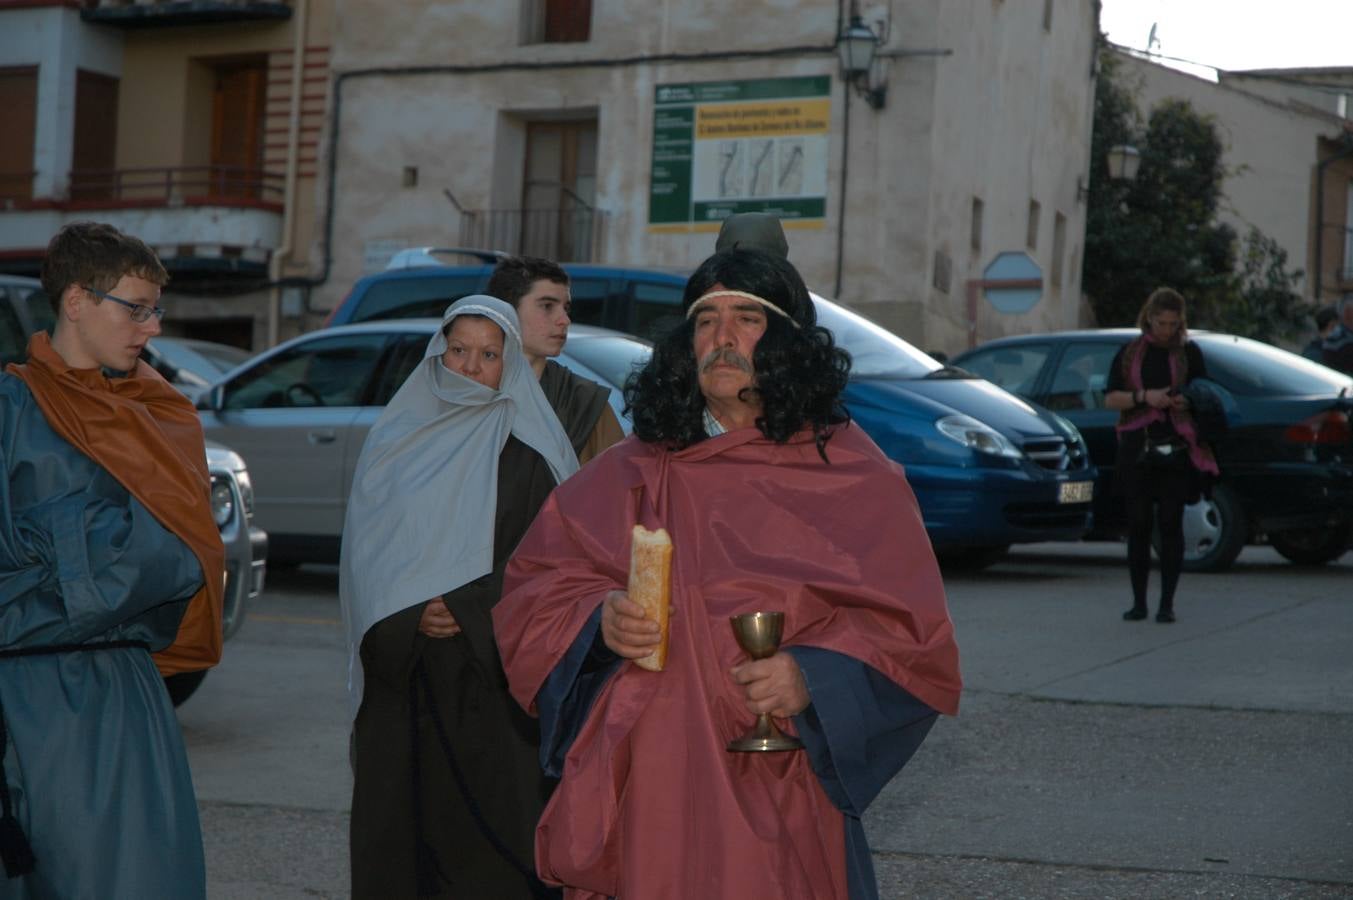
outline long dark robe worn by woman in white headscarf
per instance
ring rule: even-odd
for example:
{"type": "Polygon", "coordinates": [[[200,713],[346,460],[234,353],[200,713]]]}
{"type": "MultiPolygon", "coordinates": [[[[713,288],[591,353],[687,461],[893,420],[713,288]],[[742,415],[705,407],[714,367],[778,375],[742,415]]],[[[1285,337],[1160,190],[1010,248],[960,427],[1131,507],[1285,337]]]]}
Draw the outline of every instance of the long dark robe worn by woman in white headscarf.
{"type": "Polygon", "coordinates": [[[498,464],[494,571],[444,595],[461,633],[422,635],[418,604],[382,620],[361,642],[353,897],[418,896],[419,874],[440,889],[432,896],[547,896],[520,869],[534,866],[536,822],[552,781],[540,769],[538,723],[507,693],[490,610],[501,595],[507,556],[553,486],[545,462],[509,437],[498,464]],[[428,850],[421,861],[419,839],[428,850]]]}

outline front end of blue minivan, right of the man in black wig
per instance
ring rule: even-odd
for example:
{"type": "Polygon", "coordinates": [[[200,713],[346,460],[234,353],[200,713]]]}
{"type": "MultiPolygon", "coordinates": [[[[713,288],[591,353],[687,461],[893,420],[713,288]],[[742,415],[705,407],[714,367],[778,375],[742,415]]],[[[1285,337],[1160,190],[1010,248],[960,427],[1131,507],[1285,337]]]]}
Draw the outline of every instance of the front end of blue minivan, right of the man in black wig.
{"type": "Polygon", "coordinates": [[[1096,471],[1074,425],[831,300],[813,303],[851,353],[846,409],[907,468],[944,562],[980,567],[1011,544],[1089,531],[1096,471]]]}

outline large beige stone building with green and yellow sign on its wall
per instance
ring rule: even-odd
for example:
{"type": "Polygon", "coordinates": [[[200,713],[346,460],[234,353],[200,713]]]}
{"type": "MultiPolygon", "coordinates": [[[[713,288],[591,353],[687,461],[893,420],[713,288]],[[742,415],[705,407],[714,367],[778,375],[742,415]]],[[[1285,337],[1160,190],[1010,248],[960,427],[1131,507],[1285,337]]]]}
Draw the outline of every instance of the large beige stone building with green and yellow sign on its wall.
{"type": "Polygon", "coordinates": [[[1074,326],[1096,32],[1091,0],[336,0],[310,306],[406,246],[689,271],[764,208],[920,346],[1074,326]],[[847,83],[852,12],[878,54],[847,83]]]}

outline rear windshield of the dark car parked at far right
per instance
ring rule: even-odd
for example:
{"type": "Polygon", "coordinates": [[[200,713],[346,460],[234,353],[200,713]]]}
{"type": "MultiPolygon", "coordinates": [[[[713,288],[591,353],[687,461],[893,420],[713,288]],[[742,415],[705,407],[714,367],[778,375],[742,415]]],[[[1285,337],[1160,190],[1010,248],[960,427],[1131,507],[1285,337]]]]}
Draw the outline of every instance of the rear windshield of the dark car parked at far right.
{"type": "Polygon", "coordinates": [[[1318,397],[1346,391],[1353,378],[1304,356],[1234,334],[1195,334],[1208,378],[1234,394],[1318,397]]]}

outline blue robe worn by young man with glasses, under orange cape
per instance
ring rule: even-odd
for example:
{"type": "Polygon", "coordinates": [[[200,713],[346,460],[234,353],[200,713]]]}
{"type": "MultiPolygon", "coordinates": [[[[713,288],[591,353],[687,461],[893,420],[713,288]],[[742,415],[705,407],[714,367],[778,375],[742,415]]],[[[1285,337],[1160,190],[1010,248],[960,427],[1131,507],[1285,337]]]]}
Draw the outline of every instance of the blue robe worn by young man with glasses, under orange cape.
{"type": "Polygon", "coordinates": [[[37,857],[0,897],[206,896],[183,735],[149,651],[168,647],[202,567],[0,374],[3,774],[37,857]],[[62,644],[146,648],[5,656],[62,644]]]}

